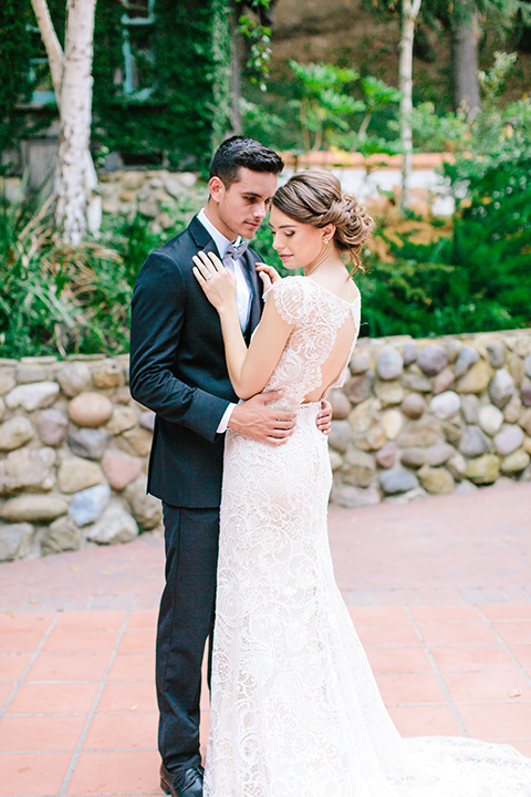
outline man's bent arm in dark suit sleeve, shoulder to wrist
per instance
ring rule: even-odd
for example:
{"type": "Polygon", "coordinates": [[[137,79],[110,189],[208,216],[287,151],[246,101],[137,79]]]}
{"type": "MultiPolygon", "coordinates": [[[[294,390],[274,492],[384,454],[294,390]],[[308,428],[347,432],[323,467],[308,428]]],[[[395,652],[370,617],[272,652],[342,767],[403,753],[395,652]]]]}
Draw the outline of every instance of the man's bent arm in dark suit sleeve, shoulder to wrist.
{"type": "Polygon", "coordinates": [[[185,315],[186,287],[174,260],[152,252],[132,303],[131,394],[157,415],[214,442],[229,402],[174,376],[185,315]]]}

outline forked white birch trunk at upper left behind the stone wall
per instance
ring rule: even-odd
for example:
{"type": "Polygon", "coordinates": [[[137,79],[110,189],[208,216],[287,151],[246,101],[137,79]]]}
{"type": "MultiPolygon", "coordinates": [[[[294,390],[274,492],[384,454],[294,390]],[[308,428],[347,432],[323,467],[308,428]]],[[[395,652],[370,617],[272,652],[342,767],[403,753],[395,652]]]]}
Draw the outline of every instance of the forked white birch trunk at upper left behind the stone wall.
{"type": "Polygon", "coordinates": [[[63,238],[79,244],[97,234],[101,200],[94,195],[96,172],[90,151],[92,59],[96,0],[67,0],[64,52],[53,30],[46,0],[32,0],[46,48],[61,124],[55,173],[55,219],[63,238]]]}

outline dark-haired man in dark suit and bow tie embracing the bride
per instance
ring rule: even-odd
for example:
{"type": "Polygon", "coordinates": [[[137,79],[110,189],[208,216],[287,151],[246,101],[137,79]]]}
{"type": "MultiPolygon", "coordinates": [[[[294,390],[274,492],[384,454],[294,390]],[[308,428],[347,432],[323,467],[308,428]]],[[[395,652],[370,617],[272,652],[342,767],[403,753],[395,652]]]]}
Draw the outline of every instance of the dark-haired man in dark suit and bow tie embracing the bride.
{"type": "MultiPolygon", "coordinates": [[[[273,411],[280,393],[238,403],[227,373],[219,317],[192,275],[192,256],[215,251],[237,281],[249,343],[261,314],[258,256],[250,239],[268,213],[282,159],[252,138],[216,151],[207,206],[142,267],[131,328],[131,393],[156,413],[148,491],[163,500],[166,587],[157,630],[160,786],[173,797],[202,795],[199,753],[201,662],[214,628],[223,433],[270,445],[294,431],[273,411]]],[[[331,408],[317,426],[327,433],[331,408]]]]}

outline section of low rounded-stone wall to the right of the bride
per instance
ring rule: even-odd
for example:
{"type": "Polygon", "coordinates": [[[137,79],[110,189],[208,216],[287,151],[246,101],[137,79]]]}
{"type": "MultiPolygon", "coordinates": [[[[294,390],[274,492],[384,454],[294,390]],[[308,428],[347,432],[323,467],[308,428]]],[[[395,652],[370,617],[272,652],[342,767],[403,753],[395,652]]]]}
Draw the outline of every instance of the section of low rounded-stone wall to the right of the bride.
{"type": "Polygon", "coordinates": [[[332,402],[341,506],[531,480],[531,330],[361,339],[332,402]]]}

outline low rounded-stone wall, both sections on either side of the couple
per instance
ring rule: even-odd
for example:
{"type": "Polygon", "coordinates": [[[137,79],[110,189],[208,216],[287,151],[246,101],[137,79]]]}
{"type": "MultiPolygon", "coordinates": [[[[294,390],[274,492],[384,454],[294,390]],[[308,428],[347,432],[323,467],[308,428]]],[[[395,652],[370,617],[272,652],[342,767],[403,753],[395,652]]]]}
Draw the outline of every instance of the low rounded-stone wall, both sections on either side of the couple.
{"type": "MultiPolygon", "coordinates": [[[[154,415],[127,383],[126,355],[0,360],[0,560],[159,527],[154,415]]],[[[331,398],[340,506],[531,482],[531,330],[361,339],[331,398]]]]}

